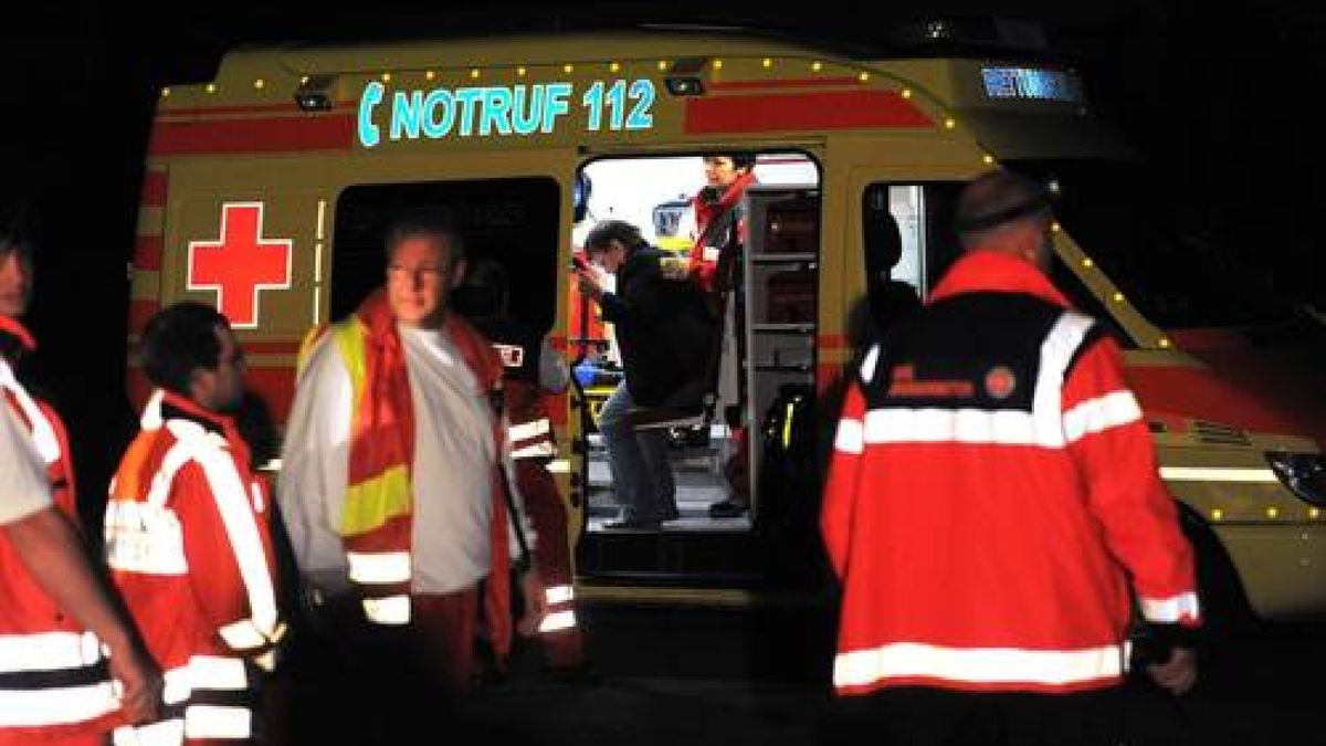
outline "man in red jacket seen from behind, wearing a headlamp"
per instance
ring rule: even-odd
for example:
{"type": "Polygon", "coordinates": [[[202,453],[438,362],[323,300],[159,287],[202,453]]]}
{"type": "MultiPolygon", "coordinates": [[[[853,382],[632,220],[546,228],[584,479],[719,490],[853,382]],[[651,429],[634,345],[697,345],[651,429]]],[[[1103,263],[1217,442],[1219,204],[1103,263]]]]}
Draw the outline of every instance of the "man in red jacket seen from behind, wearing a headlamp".
{"type": "Polygon", "coordinates": [[[884,743],[1118,743],[1131,593],[1172,645],[1151,677],[1196,677],[1192,551],[1116,342],[1046,277],[1049,198],[1004,170],[968,185],[964,255],[839,417],[833,682],[884,743]]]}

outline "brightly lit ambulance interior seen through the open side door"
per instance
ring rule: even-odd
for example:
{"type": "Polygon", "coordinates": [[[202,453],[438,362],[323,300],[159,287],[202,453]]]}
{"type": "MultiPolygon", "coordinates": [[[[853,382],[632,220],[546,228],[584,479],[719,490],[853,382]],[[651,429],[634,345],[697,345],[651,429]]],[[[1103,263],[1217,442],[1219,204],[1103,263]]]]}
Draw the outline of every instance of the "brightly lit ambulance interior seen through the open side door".
{"type": "MultiPolygon", "coordinates": [[[[583,236],[602,220],[626,220],[636,227],[651,244],[663,250],[667,261],[684,267],[691,247],[695,243],[693,214],[690,198],[704,185],[704,165],[699,155],[654,157],[654,158],[606,158],[587,163],[582,174],[590,185],[585,203],[583,219],[577,223],[573,246],[581,247],[583,236]],[[691,230],[688,230],[688,226],[691,230]]],[[[766,223],[766,204],[777,202],[793,203],[802,208],[808,220],[788,230],[798,231],[800,242],[796,261],[781,264],[785,291],[781,317],[786,328],[778,344],[768,350],[761,349],[766,360],[758,361],[761,381],[758,385],[748,376],[744,365],[751,360],[748,352],[747,327],[760,321],[748,313],[748,303],[757,300],[748,292],[745,272],[736,269],[737,280],[723,301],[724,323],[720,342],[719,364],[708,372],[696,372],[707,377],[705,389],[712,393],[707,409],[691,411],[692,417],[666,427],[668,451],[676,482],[676,502],[680,518],[666,522],[666,532],[747,532],[753,526],[758,507],[749,499],[748,470],[753,469],[748,453],[741,451],[744,429],[749,434],[758,427],[758,415],[770,405],[774,390],[766,380],[774,377],[785,382],[810,382],[813,376],[814,345],[814,261],[818,246],[818,171],[815,165],[800,154],[765,154],[756,166],[758,187],[745,196],[748,228],[756,223],[766,223]],[[777,190],[777,192],[758,192],[777,190]],[[777,196],[774,198],[774,194],[777,196]],[[769,198],[773,198],[770,202],[769,198]],[[809,202],[808,202],[809,200],[809,202]],[[794,285],[794,287],[793,287],[794,285]],[[796,327],[796,328],[793,328],[796,327]],[[778,366],[778,370],[774,370],[778,366]],[[736,491],[745,495],[735,495],[736,491]],[[737,504],[752,504],[751,510],[729,515],[711,515],[715,503],[736,499],[737,504]]],[[[757,236],[754,244],[761,244],[764,236],[757,236]]],[[[741,247],[741,251],[751,247],[741,247]]],[[[754,247],[757,251],[764,248],[754,247]]],[[[739,259],[740,251],[739,251],[739,259]]],[[[773,269],[773,265],[768,265],[773,269]]],[[[764,271],[762,273],[769,273],[764,271]]],[[[609,281],[613,277],[607,277],[609,281]]],[[[777,281],[778,277],[774,277],[777,281]]],[[[590,433],[587,437],[587,488],[586,488],[586,530],[590,534],[615,531],[610,524],[619,514],[607,451],[602,434],[597,431],[598,410],[603,400],[622,378],[622,357],[611,324],[593,325],[601,340],[585,340],[589,327],[583,325],[587,316],[578,311],[597,313],[597,308],[583,308],[579,293],[572,291],[572,304],[582,304],[572,313],[573,340],[583,340],[581,346],[573,345],[577,360],[578,382],[589,406],[590,433]],[[581,321],[582,328],[575,328],[581,321]]],[[[772,324],[766,324],[772,325],[772,324]]],[[[591,332],[593,335],[593,332],[591,332]]],[[[758,358],[757,358],[758,360],[758,358]]],[[[699,402],[696,402],[699,404],[699,402]]],[[[642,408],[642,421],[650,419],[647,408],[642,408]]],[[[638,427],[650,427],[642,423],[638,427]]],[[[749,439],[748,439],[749,442],[749,439]]]]}

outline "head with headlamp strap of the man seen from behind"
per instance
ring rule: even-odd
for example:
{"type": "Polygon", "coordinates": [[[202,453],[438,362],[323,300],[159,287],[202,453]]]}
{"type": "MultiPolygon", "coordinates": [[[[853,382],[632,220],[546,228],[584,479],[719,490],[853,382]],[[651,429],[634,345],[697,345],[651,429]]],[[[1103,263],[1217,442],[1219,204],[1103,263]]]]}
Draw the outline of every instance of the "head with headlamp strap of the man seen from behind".
{"type": "Polygon", "coordinates": [[[968,251],[997,251],[1049,269],[1052,194],[1045,185],[1006,170],[985,173],[957,198],[957,236],[968,251]]]}

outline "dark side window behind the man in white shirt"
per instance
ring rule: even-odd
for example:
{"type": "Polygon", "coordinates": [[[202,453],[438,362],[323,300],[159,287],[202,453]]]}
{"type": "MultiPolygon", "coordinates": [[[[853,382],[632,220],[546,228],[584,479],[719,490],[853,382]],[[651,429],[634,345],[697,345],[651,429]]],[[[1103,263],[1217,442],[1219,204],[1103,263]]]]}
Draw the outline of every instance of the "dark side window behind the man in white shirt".
{"type": "Polygon", "coordinates": [[[561,190],[545,177],[346,188],[337,200],[330,319],[351,313],[383,280],[383,238],[402,212],[447,215],[471,260],[493,259],[511,276],[511,313],[548,331],[557,312],[561,190]]]}

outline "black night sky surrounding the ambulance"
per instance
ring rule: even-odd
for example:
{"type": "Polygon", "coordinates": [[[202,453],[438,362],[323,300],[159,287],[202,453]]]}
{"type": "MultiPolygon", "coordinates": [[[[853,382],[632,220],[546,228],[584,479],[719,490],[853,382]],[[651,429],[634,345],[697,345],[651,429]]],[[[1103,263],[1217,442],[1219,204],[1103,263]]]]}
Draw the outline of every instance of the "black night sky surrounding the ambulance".
{"type": "MultiPolygon", "coordinates": [[[[0,17],[0,190],[33,207],[40,256],[29,321],[40,373],[72,422],[131,422],[123,401],[126,261],[151,106],[171,82],[208,80],[241,42],[354,41],[469,31],[572,31],[633,23],[749,25],[835,41],[880,41],[900,21],[991,13],[1038,19],[1078,62],[1093,106],[1134,145],[1175,235],[1231,281],[1290,303],[1322,303],[1310,271],[1323,159],[1317,97],[1326,81],[1326,9],[1309,0],[1024,1],[977,8],[821,0],[171,4],[29,3],[0,17]]],[[[1195,252],[1195,254],[1193,254],[1195,252]]],[[[85,491],[99,491],[115,447],[76,431],[85,491]]]]}

